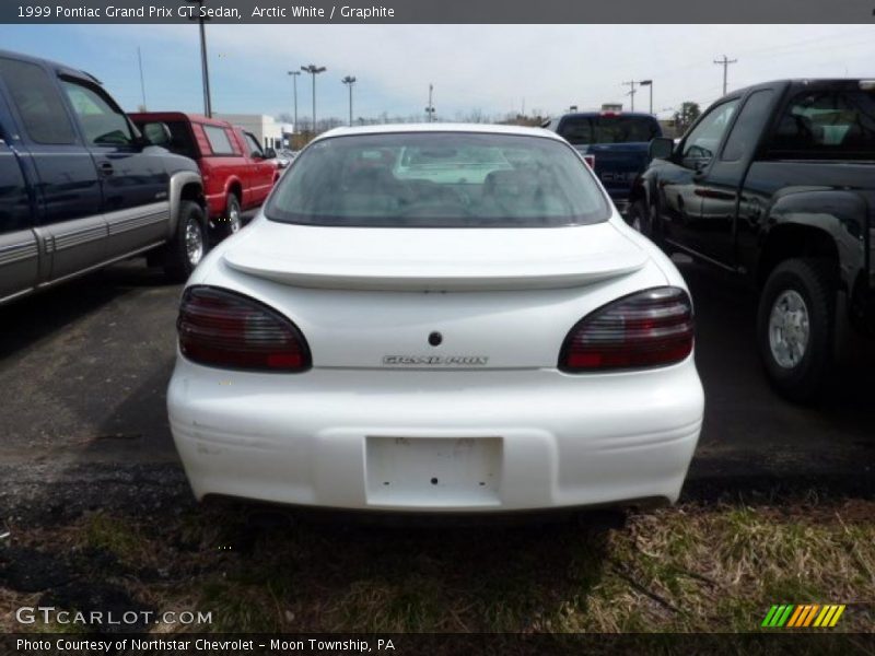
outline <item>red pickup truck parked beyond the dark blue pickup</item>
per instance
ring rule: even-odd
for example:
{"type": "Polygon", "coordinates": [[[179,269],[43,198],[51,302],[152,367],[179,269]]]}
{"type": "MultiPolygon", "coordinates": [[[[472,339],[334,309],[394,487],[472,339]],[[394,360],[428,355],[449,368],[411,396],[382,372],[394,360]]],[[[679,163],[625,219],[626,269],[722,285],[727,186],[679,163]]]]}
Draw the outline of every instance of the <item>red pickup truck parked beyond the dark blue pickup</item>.
{"type": "Polygon", "coordinates": [[[279,179],[272,150],[264,150],[252,133],[225,120],[182,112],[130,114],[130,118],[155,145],[198,163],[210,223],[220,234],[237,232],[242,212],[259,207],[279,179]]]}

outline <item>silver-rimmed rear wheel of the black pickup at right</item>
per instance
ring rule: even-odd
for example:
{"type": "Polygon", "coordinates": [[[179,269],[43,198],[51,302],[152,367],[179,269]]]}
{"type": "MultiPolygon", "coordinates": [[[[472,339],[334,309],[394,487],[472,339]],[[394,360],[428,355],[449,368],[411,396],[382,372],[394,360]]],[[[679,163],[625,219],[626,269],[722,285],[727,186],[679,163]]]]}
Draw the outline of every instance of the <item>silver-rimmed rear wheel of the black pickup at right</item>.
{"type": "Polygon", "coordinates": [[[762,290],[757,340],[766,371],[785,398],[815,398],[831,364],[835,273],[828,260],[781,262],[762,290]]]}

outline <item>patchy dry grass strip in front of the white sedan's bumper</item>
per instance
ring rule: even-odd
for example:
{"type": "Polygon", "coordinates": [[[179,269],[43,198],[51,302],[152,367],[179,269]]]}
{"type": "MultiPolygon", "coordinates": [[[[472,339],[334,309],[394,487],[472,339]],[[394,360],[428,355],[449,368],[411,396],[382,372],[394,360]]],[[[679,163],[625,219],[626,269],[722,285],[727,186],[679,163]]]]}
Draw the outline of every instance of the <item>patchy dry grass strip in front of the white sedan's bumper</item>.
{"type": "MultiPolygon", "coordinates": [[[[156,611],[212,611],[209,626],[158,632],[756,631],[772,604],[875,601],[871,501],[682,505],[610,529],[264,527],[245,513],[91,514],[13,541],[60,547],[81,585],[124,581],[156,611]]],[[[34,600],[3,572],[0,605],[34,600]]],[[[872,626],[865,606],[839,625],[872,626]]]]}

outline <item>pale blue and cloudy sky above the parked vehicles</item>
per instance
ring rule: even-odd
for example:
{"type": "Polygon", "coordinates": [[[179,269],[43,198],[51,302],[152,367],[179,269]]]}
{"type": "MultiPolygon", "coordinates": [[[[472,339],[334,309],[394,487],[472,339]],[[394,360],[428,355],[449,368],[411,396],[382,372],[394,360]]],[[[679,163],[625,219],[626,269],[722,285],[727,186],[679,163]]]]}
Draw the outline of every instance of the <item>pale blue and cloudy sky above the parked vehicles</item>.
{"type": "MultiPolygon", "coordinates": [[[[872,25],[208,25],[214,112],[291,113],[288,70],[327,67],[317,78],[318,116],[348,116],[340,79],[359,80],[354,116],[422,114],[429,83],[438,115],[456,119],[622,102],[623,81],[653,79],[654,110],[702,105],[730,89],[788,77],[875,78],[872,25]]],[[[122,107],[202,112],[195,25],[0,25],[0,48],[56,59],[100,78],[122,107]]],[[[299,114],[312,112],[301,75],[299,114]]],[[[646,89],[635,108],[646,109],[646,89]]]]}

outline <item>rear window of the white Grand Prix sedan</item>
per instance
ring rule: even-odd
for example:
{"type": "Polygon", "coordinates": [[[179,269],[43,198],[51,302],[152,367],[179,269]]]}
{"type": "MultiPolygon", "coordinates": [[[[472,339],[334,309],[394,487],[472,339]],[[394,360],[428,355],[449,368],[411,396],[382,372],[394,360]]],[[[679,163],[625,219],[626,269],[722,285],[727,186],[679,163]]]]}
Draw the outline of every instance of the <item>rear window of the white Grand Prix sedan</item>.
{"type": "Polygon", "coordinates": [[[604,221],[608,206],[568,145],[465,132],[341,136],[308,147],[268,219],[375,227],[537,227],[604,221]]]}

